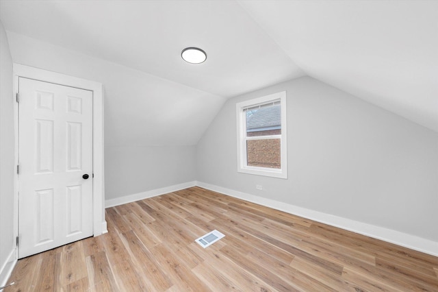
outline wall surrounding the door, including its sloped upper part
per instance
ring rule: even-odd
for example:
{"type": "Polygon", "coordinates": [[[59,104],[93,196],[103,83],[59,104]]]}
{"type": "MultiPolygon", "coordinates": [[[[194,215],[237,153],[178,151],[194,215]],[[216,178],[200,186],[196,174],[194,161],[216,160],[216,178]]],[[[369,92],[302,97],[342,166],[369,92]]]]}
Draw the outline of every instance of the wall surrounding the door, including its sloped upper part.
{"type": "Polygon", "coordinates": [[[103,84],[105,199],[195,180],[194,145],[222,97],[27,36],[8,38],[16,63],[103,84]]]}

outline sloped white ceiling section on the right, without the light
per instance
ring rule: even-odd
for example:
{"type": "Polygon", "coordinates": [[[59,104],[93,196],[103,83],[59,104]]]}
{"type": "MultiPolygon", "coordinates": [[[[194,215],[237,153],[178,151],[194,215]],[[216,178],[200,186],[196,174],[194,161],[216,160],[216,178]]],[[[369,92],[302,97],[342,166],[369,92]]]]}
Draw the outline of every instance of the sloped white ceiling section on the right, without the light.
{"type": "Polygon", "coordinates": [[[307,75],[438,132],[438,1],[240,1],[307,75]]]}

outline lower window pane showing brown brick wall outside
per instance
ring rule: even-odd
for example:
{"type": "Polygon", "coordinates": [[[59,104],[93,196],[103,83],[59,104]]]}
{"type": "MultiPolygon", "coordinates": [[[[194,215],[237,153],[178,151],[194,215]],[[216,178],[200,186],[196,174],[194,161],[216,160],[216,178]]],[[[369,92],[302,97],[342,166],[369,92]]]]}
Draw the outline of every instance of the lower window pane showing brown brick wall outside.
{"type": "Polygon", "coordinates": [[[246,160],[250,167],[281,169],[280,139],[246,141],[246,160]]]}

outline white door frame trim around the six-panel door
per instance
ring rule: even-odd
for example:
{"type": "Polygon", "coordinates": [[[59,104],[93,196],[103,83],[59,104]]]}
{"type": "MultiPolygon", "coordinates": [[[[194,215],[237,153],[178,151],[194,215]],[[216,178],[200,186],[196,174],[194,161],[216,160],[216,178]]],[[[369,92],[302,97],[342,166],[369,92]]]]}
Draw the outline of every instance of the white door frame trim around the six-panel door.
{"type": "MultiPolygon", "coordinates": [[[[14,93],[18,77],[26,77],[64,86],[90,90],[93,93],[93,234],[107,232],[105,221],[105,186],[103,171],[103,88],[102,84],[81,78],[14,63],[14,93]]],[[[18,104],[14,103],[15,164],[18,165],[18,104]]],[[[18,174],[14,172],[14,235],[18,236],[18,174]]],[[[18,256],[18,249],[16,250],[18,256]]]]}

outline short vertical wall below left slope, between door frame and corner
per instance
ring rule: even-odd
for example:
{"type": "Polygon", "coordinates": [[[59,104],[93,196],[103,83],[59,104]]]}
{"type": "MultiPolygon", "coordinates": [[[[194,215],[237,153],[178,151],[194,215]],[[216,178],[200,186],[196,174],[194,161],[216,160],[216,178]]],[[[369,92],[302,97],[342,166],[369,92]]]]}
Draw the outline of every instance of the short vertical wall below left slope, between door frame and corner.
{"type": "Polygon", "coordinates": [[[195,160],[195,146],[108,147],[105,169],[126,171],[106,171],[105,199],[193,182],[196,180],[195,160]]]}

